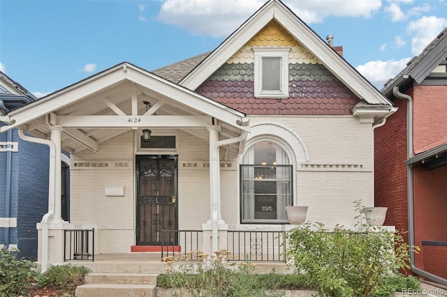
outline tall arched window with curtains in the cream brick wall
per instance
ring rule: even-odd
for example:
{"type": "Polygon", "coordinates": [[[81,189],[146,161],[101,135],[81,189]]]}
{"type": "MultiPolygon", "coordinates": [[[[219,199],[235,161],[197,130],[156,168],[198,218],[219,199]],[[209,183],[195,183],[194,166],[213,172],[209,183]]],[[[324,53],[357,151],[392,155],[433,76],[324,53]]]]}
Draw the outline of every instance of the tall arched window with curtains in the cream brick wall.
{"type": "Polygon", "coordinates": [[[242,223],[284,223],[292,205],[291,158],[272,140],[258,141],[240,165],[242,223]]]}

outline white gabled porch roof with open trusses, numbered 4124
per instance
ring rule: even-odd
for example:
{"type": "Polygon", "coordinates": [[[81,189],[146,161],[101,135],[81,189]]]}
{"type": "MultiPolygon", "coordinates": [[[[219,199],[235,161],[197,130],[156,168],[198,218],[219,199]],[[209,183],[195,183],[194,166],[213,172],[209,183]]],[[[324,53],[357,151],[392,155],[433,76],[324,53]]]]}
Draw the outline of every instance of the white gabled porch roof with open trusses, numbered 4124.
{"type": "MultiPolygon", "coordinates": [[[[120,63],[44,98],[1,116],[12,128],[48,138],[51,125],[61,125],[62,148],[78,153],[129,130],[153,132],[181,129],[208,140],[207,125],[221,125],[220,139],[249,131],[249,118],[200,94],[149,73],[131,63],[120,63]]],[[[235,153],[239,144],[227,146],[235,153]]]]}

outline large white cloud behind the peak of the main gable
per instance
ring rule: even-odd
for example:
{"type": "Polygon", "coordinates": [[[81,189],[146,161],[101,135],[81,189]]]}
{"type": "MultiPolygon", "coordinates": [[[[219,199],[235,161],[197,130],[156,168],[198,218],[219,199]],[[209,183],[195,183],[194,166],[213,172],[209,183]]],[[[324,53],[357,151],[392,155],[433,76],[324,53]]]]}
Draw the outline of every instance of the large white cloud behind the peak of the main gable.
{"type": "MultiPolygon", "coordinates": [[[[223,37],[237,29],[264,3],[265,0],[162,0],[158,20],[196,35],[223,37]]],[[[329,15],[371,17],[381,6],[381,0],[356,0],[356,5],[352,5],[352,1],[328,5],[328,0],[284,3],[307,24],[322,22],[329,15]]]]}

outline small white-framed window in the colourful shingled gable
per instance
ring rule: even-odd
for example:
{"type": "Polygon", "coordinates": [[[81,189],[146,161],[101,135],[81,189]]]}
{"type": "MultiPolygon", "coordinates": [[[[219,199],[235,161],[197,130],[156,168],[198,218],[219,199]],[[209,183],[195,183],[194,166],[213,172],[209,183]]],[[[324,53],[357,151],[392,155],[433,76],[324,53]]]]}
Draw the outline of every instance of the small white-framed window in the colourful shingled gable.
{"type": "Polygon", "coordinates": [[[290,50],[290,47],[253,47],[256,98],[288,98],[290,50]]]}

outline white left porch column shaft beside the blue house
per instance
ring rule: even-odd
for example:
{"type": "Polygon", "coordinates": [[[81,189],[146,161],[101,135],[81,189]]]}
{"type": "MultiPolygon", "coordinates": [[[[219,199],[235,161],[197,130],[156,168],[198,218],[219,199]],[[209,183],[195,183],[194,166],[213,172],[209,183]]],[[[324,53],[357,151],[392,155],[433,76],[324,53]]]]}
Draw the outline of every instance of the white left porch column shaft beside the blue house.
{"type": "Polygon", "coordinates": [[[61,179],[62,179],[62,160],[61,160],[61,132],[64,130],[60,125],[52,125],[51,142],[54,144],[56,151],[54,158],[54,213],[50,220],[61,221],[61,179]]]}

